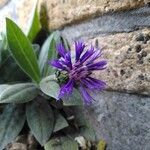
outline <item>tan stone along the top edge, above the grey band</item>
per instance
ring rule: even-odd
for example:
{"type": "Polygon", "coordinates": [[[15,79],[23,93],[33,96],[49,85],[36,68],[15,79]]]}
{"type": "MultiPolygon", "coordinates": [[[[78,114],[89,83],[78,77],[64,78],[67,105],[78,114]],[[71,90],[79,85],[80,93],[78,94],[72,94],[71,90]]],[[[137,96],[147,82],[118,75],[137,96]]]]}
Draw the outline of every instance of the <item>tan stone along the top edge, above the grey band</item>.
{"type": "Polygon", "coordinates": [[[106,12],[129,10],[144,5],[144,0],[41,0],[47,6],[49,29],[77,23],[106,12]]]}

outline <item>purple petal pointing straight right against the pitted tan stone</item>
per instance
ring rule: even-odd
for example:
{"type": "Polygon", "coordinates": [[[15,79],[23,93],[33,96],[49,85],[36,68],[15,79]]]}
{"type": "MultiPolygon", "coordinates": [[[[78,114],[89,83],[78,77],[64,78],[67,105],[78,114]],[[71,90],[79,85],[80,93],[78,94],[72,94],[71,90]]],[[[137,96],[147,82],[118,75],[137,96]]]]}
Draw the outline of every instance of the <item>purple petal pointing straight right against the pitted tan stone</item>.
{"type": "Polygon", "coordinates": [[[106,64],[107,64],[107,61],[103,60],[94,64],[90,64],[87,67],[89,70],[103,70],[103,69],[106,69],[106,64]]]}

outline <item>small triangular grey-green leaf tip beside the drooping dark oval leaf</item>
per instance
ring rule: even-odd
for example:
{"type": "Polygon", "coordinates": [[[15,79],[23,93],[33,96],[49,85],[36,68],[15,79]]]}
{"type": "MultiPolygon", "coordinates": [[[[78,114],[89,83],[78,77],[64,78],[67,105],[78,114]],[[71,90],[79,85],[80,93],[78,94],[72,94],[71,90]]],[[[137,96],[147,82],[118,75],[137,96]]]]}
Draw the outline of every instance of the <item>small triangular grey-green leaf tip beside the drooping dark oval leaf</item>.
{"type": "Polygon", "coordinates": [[[68,122],[60,114],[60,112],[55,112],[55,118],[56,118],[56,121],[55,121],[53,132],[57,132],[57,131],[59,131],[61,129],[64,129],[64,128],[68,127],[68,122]]]}

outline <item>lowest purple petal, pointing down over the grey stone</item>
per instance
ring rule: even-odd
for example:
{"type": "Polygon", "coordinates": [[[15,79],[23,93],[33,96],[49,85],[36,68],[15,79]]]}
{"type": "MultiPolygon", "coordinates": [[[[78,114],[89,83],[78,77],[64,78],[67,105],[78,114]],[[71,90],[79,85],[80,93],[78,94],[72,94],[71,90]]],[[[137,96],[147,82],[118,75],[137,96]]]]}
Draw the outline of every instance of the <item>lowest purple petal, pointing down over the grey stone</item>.
{"type": "Polygon", "coordinates": [[[81,92],[81,95],[84,99],[84,103],[89,105],[92,103],[92,101],[94,100],[91,95],[87,92],[87,89],[84,88],[82,85],[79,87],[79,90],[81,92]]]}

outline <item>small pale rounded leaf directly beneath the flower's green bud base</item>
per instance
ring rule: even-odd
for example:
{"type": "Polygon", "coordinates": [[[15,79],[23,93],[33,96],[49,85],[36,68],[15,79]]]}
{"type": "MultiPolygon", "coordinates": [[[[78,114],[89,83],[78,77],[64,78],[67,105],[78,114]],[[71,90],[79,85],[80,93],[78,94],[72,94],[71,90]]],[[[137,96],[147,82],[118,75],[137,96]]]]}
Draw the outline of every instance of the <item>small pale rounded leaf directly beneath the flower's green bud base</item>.
{"type": "Polygon", "coordinates": [[[60,87],[55,75],[50,75],[40,82],[40,89],[46,95],[58,99],[60,87]]]}

